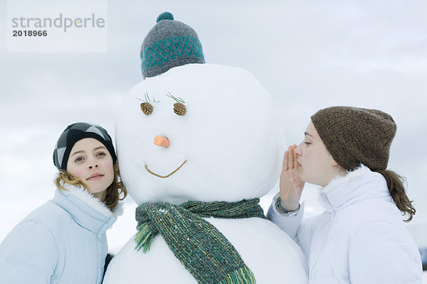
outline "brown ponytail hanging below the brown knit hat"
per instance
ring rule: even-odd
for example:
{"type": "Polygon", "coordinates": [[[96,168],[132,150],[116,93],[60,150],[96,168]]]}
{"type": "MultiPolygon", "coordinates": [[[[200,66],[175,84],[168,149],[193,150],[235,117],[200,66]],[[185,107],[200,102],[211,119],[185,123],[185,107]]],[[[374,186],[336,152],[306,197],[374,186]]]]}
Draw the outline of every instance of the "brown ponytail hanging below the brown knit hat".
{"type": "Polygon", "coordinates": [[[408,219],[404,220],[404,222],[411,222],[415,214],[415,208],[412,206],[412,201],[409,200],[405,192],[404,181],[406,179],[391,170],[378,170],[377,173],[381,173],[386,179],[390,195],[394,203],[396,203],[397,208],[399,208],[403,215],[408,215],[408,219]]]}

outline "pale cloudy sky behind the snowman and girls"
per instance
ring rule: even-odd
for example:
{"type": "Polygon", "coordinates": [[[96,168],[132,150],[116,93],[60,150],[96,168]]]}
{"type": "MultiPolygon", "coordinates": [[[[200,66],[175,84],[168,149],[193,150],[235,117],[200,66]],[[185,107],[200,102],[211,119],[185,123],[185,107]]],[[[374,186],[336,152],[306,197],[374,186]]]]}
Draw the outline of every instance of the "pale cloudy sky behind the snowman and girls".
{"type": "MultiPolygon", "coordinates": [[[[107,53],[7,53],[0,28],[0,223],[52,197],[51,156],[65,126],[91,121],[114,135],[117,105],[142,80],[142,40],[163,11],[194,28],[206,62],[253,72],[288,143],[300,143],[323,107],[391,114],[389,168],[408,178],[414,223],[427,223],[427,1],[128,0],[107,9],[107,53]]],[[[0,11],[6,27],[6,1],[0,11]]]]}

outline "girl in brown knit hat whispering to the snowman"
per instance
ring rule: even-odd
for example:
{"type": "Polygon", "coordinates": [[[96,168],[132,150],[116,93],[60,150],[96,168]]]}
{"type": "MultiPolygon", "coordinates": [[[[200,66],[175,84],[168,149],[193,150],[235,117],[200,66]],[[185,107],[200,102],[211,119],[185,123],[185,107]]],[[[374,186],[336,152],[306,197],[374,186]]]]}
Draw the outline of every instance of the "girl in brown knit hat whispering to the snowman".
{"type": "Polygon", "coordinates": [[[285,152],[267,217],[304,251],[310,283],[422,283],[402,217],[411,221],[415,209],[402,178],[386,170],[395,133],[382,111],[330,107],[311,116],[302,143],[285,152]],[[323,214],[303,217],[305,182],[322,186],[323,214]]]}

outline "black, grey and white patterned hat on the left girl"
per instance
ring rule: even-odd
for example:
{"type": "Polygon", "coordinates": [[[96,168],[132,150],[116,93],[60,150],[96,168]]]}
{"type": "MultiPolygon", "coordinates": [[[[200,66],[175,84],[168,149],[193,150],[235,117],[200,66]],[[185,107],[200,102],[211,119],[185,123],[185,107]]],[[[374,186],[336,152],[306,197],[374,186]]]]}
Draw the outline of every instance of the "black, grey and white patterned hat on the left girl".
{"type": "Polygon", "coordinates": [[[100,141],[110,152],[113,163],[117,162],[112,139],[108,132],[99,125],[78,122],[67,126],[63,133],[60,134],[58,142],[56,142],[55,150],[53,150],[53,164],[56,165],[58,170],[67,170],[71,149],[75,143],[83,138],[95,138],[100,141]]]}

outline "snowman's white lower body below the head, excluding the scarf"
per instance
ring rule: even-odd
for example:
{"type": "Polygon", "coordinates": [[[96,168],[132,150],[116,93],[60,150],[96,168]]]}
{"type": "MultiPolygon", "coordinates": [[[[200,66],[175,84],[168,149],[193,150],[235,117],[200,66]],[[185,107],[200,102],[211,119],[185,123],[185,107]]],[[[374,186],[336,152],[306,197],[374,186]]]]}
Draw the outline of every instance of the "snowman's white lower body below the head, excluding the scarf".
{"type": "MultiPolygon", "coordinates": [[[[214,224],[251,268],[256,283],[308,283],[299,247],[287,234],[265,219],[206,219],[214,224]]],[[[147,253],[135,250],[130,239],[107,270],[104,284],[197,283],[157,236],[147,253]]]]}

